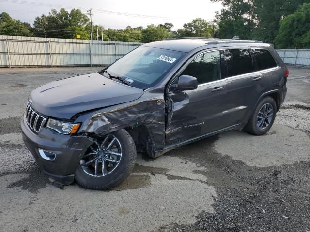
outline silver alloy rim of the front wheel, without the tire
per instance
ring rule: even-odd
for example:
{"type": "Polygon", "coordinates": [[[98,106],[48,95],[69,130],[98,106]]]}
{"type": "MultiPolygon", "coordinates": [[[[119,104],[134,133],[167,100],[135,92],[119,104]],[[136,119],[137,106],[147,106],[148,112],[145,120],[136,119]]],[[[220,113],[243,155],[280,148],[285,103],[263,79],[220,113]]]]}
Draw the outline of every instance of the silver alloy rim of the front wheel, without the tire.
{"type": "Polygon", "coordinates": [[[108,134],[103,140],[97,140],[90,145],[80,165],[86,174],[101,177],[113,172],[121,159],[120,141],[113,134],[108,134]]]}

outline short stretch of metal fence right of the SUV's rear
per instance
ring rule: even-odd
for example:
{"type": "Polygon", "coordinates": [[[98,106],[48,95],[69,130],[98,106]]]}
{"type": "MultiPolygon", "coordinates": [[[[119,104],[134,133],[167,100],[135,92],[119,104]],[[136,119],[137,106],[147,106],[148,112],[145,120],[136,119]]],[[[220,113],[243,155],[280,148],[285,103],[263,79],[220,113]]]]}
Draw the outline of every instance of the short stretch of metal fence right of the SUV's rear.
{"type": "Polygon", "coordinates": [[[310,49],[277,50],[286,64],[310,66],[310,49]]]}

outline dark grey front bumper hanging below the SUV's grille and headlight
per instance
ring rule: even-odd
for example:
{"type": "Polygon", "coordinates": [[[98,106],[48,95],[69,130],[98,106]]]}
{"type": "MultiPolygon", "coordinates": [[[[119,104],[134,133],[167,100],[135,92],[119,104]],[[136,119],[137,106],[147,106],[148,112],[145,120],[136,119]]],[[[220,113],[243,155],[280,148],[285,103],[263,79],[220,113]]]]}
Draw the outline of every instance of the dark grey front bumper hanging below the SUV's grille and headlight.
{"type": "Polygon", "coordinates": [[[36,134],[28,127],[24,116],[20,125],[24,143],[42,171],[63,185],[71,184],[79,161],[93,143],[92,138],[63,135],[48,128],[42,128],[36,134]],[[44,159],[39,149],[55,154],[55,159],[44,159]]]}

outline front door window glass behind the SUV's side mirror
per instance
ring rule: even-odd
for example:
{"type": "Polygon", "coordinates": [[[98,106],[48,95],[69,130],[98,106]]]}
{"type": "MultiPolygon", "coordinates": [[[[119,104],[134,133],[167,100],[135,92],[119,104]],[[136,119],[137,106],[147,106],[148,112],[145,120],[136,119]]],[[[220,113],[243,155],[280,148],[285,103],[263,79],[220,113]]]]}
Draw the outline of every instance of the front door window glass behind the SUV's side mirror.
{"type": "Polygon", "coordinates": [[[198,84],[219,80],[221,66],[220,60],[219,51],[203,53],[190,62],[182,75],[196,77],[198,84]]]}

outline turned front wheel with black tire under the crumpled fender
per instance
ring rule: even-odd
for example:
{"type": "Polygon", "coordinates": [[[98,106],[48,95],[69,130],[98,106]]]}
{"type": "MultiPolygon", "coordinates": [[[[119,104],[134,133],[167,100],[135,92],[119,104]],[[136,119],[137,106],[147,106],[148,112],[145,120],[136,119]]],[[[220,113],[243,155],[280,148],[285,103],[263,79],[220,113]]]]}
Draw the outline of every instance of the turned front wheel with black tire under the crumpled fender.
{"type": "Polygon", "coordinates": [[[121,184],[136,162],[135,143],[125,130],[114,131],[89,146],[75,172],[84,188],[108,189],[121,184]]]}

